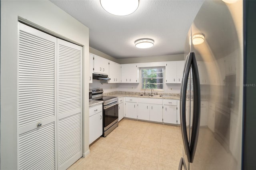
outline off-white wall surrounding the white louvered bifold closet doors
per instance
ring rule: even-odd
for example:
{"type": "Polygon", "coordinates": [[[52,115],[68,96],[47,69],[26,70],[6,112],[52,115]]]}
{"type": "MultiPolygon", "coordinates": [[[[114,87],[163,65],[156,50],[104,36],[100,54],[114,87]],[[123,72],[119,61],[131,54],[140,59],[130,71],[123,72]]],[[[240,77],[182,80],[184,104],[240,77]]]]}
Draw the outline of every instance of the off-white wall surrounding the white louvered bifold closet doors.
{"type": "MultiPolygon", "coordinates": [[[[1,1],[1,167],[18,169],[18,17],[83,45],[83,154],[89,152],[89,29],[50,1],[1,1]]],[[[40,156],[40,153],[38,153],[40,156]]]]}

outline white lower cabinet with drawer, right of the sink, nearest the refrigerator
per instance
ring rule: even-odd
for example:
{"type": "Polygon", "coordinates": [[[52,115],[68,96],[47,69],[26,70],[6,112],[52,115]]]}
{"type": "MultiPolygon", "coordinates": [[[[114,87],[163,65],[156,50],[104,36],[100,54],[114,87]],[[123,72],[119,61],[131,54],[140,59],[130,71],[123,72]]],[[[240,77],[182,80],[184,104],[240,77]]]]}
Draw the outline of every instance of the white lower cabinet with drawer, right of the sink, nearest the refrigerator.
{"type": "Polygon", "coordinates": [[[163,105],[163,122],[177,124],[177,101],[174,99],[164,99],[163,105]]]}

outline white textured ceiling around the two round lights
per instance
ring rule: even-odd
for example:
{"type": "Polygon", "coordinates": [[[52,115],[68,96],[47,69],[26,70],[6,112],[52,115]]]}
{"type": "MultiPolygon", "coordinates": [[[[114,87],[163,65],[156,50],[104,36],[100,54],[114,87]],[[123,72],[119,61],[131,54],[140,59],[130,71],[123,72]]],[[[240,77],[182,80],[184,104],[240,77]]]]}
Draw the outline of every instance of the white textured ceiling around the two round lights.
{"type": "Polygon", "coordinates": [[[100,0],[51,0],[90,29],[90,47],[115,58],[183,53],[188,30],[203,1],[140,0],[128,16],[106,12],[100,0]],[[138,49],[140,38],[154,40],[154,47],[138,49]]]}

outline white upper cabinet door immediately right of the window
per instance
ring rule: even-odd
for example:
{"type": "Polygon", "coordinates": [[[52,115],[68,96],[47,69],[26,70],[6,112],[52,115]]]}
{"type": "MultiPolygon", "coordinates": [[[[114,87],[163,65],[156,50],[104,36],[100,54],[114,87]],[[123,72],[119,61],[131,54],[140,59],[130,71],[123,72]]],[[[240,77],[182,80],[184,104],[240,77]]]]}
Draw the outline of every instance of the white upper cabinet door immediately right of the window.
{"type": "Polygon", "coordinates": [[[167,62],[165,67],[166,83],[177,83],[177,63],[174,61],[167,62]]]}

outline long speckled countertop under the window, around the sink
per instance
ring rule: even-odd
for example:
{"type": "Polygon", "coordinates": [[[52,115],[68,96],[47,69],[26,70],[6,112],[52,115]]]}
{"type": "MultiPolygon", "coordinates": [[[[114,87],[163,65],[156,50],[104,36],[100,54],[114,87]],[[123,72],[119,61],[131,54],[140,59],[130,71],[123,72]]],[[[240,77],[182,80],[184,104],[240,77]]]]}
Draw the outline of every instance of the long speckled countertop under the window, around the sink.
{"type": "MultiPolygon", "coordinates": [[[[156,93],[156,92],[154,92],[156,93]]],[[[140,96],[142,92],[131,92],[131,91],[113,91],[109,93],[103,93],[104,96],[115,96],[115,97],[146,97],[146,98],[156,98],[156,99],[180,99],[180,94],[177,93],[158,93],[161,97],[152,96],[140,96]]],[[[146,93],[149,95],[150,93],[146,93]]]]}

